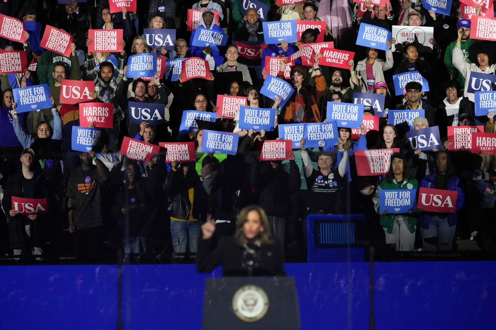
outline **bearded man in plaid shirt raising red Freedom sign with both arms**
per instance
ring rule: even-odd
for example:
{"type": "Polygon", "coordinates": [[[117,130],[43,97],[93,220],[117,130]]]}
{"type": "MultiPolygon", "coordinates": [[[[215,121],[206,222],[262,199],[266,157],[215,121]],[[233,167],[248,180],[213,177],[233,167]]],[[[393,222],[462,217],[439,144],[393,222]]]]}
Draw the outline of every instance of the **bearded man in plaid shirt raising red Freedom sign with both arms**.
{"type": "MultiPolygon", "coordinates": [[[[86,45],[90,45],[91,43],[93,43],[93,40],[91,39],[88,39],[86,41],[86,45]]],[[[119,45],[122,45],[123,51],[119,55],[119,63],[117,66],[117,73],[115,75],[114,65],[111,62],[100,63],[100,74],[98,74],[93,53],[89,51],[87,53],[86,74],[88,75],[88,78],[95,81],[95,92],[97,94],[97,97],[104,103],[112,103],[114,105],[114,126],[113,128],[105,129],[109,137],[110,150],[119,150],[119,138],[121,133],[120,124],[121,121],[124,119],[124,111],[119,106],[115,98],[119,82],[121,82],[122,80],[126,80],[126,78],[124,78],[124,61],[126,58],[124,50],[124,40],[121,40],[119,42],[119,45]]]]}

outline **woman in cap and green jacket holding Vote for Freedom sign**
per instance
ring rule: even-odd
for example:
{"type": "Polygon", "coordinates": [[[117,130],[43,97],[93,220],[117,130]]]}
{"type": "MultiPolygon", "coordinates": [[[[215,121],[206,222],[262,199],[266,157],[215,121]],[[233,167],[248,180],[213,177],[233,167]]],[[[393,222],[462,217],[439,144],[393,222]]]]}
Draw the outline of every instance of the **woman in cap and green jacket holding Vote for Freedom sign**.
{"type": "MultiPolygon", "coordinates": [[[[388,214],[387,211],[382,211],[380,205],[384,205],[386,201],[380,200],[380,190],[406,190],[418,189],[419,182],[415,180],[408,169],[405,158],[401,153],[393,153],[391,155],[391,163],[389,171],[384,180],[382,180],[375,190],[375,195],[372,198],[375,211],[379,214],[380,225],[384,229],[386,235],[386,244],[396,244],[396,251],[414,251],[415,231],[417,229],[417,217],[413,208],[408,213],[388,214]]],[[[415,203],[416,195],[411,196],[401,192],[398,197],[388,198],[388,202],[398,205],[409,205],[415,203]],[[408,197],[407,197],[408,196],[408,197]],[[396,199],[397,198],[397,199],[396,199]]],[[[394,194],[393,196],[396,196],[394,194]]],[[[415,204],[413,204],[415,205],[415,204]]]]}

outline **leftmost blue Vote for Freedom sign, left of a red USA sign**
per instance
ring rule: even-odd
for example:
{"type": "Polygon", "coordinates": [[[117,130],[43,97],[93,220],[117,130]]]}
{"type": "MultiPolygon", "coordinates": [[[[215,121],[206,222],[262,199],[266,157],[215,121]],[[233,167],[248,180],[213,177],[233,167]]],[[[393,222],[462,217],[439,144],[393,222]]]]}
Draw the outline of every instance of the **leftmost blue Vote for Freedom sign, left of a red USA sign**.
{"type": "Polygon", "coordinates": [[[12,90],[14,102],[17,104],[15,111],[27,112],[52,108],[50,100],[50,88],[48,84],[15,88],[12,90]]]}

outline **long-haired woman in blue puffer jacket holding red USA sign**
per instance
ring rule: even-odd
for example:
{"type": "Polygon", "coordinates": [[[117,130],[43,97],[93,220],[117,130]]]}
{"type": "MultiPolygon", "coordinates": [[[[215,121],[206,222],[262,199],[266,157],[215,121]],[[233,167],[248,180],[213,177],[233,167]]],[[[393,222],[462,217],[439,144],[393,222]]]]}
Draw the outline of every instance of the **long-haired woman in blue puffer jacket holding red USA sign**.
{"type": "MultiPolygon", "coordinates": [[[[450,155],[446,151],[439,151],[436,154],[436,171],[426,176],[420,183],[420,188],[442,189],[457,191],[455,211],[448,213],[438,212],[423,212],[420,217],[420,232],[424,242],[425,251],[447,251],[452,249],[453,238],[456,232],[456,223],[458,222],[457,211],[459,211],[465,202],[463,190],[459,187],[460,179],[454,174],[454,169],[451,167],[450,155]]],[[[455,201],[447,201],[442,196],[430,195],[421,196],[425,198],[425,203],[432,205],[438,203],[455,203],[455,201]]],[[[422,212],[422,208],[418,207],[418,211],[422,212]]]]}

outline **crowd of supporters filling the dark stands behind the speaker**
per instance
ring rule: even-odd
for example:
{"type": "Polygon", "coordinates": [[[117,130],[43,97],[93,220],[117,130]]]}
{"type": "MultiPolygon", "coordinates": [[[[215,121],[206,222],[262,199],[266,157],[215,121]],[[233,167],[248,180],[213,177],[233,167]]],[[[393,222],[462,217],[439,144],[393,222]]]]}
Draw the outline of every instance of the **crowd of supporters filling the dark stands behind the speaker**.
{"type": "MultiPolygon", "coordinates": [[[[253,204],[265,211],[265,230],[284,241],[285,248],[296,242],[304,246],[309,214],[365,214],[366,235],[361,239],[367,243],[395,244],[398,251],[452,250],[462,238],[476,240],[481,249],[495,249],[496,158],[463,147],[448,150],[453,141],[447,137],[451,126],[496,132],[494,110],[476,116],[468,86],[471,72],[495,74],[495,41],[470,38],[474,17],[483,8],[472,7],[469,19],[457,0],[450,15],[426,10],[422,0],[386,1],[385,7],[351,0],[257,2],[268,10],[248,0],[137,0],[136,12],[124,8],[117,13],[111,13],[108,0],[2,0],[1,14],[39,24],[29,25],[38,28],[27,30],[24,44],[0,39],[4,51],[25,51],[30,65],[22,74],[0,75],[1,254],[32,254],[43,260],[45,254],[95,257],[118,249],[134,255],[195,253],[205,246],[203,223],[208,228],[215,224],[215,233],[203,232],[203,237],[233,236],[243,229],[237,226],[240,211],[253,204]],[[201,11],[203,28],[226,34],[227,46],[192,46],[195,31],[186,29],[187,9],[201,11]],[[355,58],[347,62],[349,69],[321,64],[318,52],[313,65],[303,65],[301,59],[285,64],[299,49],[317,43],[321,31],[316,28],[306,29],[298,43],[282,39],[262,47],[256,59],[247,58],[238,43],[263,45],[262,20],[325,22],[323,41],[355,52],[355,58]],[[398,44],[393,36],[386,44],[389,50],[366,48],[356,45],[362,23],[389,31],[395,25],[433,27],[434,36],[424,44],[398,44]],[[40,47],[47,26],[73,36],[69,56],[40,47]],[[147,45],[143,30],[148,28],[176,29],[174,49],[147,45]],[[89,51],[91,29],[122,29],[119,44],[124,50],[89,51]],[[204,58],[211,74],[209,79],[186,80],[181,73],[175,81],[171,68],[163,67],[163,78],[158,72],[149,80],[126,78],[127,58],[142,53],[156,53],[166,61],[204,58]],[[108,61],[111,55],[116,65],[108,61]],[[294,87],[285,103],[260,93],[267,56],[281,58],[277,77],[294,87]],[[394,90],[392,76],[410,71],[422,75],[429,92],[422,92],[418,81],[408,82],[403,93],[394,90]],[[72,150],[72,128],[80,126],[83,103],[61,103],[64,79],[94,82],[91,102],[113,105],[113,127],[101,129],[101,150],[72,150]],[[17,113],[13,90],[40,84],[49,85],[52,106],[17,113]],[[348,127],[338,127],[336,145],[306,148],[302,139],[289,159],[258,159],[260,143],[280,139],[278,125],[327,122],[328,102],[354,103],[356,93],[385,95],[380,111],[364,106],[364,115],[379,116],[377,131],[362,124],[355,135],[348,127]],[[222,118],[217,114],[218,94],[246,97],[251,108],[275,108],[274,131],[240,129],[239,114],[222,118]],[[165,123],[132,122],[129,102],[165,105],[165,123]],[[406,138],[410,125],[393,123],[387,115],[389,110],[418,109],[424,109],[425,116],[416,117],[412,129],[437,126],[438,149],[413,149],[406,138]],[[197,129],[180,132],[186,110],[214,112],[216,120],[196,120],[197,129]],[[237,133],[236,155],[201,152],[204,130],[237,133]],[[196,161],[165,162],[164,154],[134,161],[120,153],[124,137],[155,145],[194,142],[196,161]],[[386,148],[399,149],[390,157],[387,174],[357,175],[357,151],[386,148]],[[457,191],[456,208],[449,213],[420,207],[399,214],[381,210],[381,189],[421,188],[457,191]],[[13,206],[14,196],[46,199],[49,212],[22,215],[13,206]]],[[[98,123],[89,126],[98,128],[98,123]]]]}

